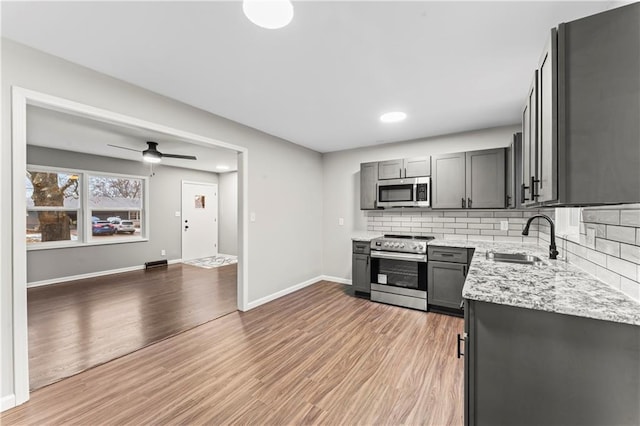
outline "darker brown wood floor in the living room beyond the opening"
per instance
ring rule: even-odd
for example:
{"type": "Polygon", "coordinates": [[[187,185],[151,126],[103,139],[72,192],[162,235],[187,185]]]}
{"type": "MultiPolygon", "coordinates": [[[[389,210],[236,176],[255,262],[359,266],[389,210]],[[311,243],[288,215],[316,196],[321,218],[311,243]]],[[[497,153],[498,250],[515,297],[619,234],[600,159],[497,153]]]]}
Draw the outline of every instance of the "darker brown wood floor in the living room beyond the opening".
{"type": "Polygon", "coordinates": [[[236,266],[175,264],[28,289],[30,388],[235,311],[236,266]]]}

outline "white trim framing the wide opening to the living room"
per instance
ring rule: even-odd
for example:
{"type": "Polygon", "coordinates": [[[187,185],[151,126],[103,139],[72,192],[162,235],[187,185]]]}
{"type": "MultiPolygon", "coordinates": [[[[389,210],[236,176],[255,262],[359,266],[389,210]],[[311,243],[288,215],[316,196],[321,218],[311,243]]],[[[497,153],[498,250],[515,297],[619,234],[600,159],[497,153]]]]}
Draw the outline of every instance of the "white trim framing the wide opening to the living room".
{"type": "MultiPolygon", "coordinates": [[[[111,111],[101,110],[88,105],[79,104],[62,98],[57,98],[30,91],[23,88],[13,88],[12,93],[12,140],[13,140],[13,172],[12,172],[12,188],[13,188],[13,248],[14,256],[12,263],[13,271],[13,359],[14,359],[14,391],[16,397],[16,405],[19,405],[29,399],[29,348],[28,348],[28,310],[27,310],[27,242],[24,239],[24,230],[26,229],[27,220],[24,212],[27,210],[27,202],[25,197],[25,170],[27,170],[27,120],[28,108],[38,107],[45,110],[55,111],[67,114],[69,117],[80,117],[82,119],[93,120],[96,123],[102,123],[108,126],[117,126],[129,130],[139,132],[152,132],[156,135],[162,135],[167,140],[173,139],[182,144],[190,144],[194,147],[201,148],[223,148],[232,150],[237,155],[238,160],[238,230],[237,230],[237,247],[238,247],[238,265],[237,279],[235,283],[235,292],[237,294],[236,308],[239,310],[247,309],[247,163],[248,152],[245,148],[231,145],[215,139],[203,137],[200,135],[185,132],[179,129],[163,126],[158,123],[139,120],[130,116],[114,113],[111,111]]],[[[83,211],[84,216],[87,213],[83,211]]],[[[85,220],[89,223],[89,220],[85,220]]],[[[84,232],[88,232],[88,226],[85,226],[84,232]]],[[[156,235],[161,235],[161,229],[150,229],[148,240],[156,235]]],[[[149,244],[149,241],[143,241],[140,244],[149,244]]],[[[86,242],[86,241],[85,241],[86,242]]],[[[96,244],[88,244],[95,247],[96,244]]],[[[124,247],[126,244],[119,244],[124,247]]],[[[100,246],[102,247],[102,246],[100,246]]],[[[115,246],[114,246],[115,247],[115,246]]],[[[76,247],[65,248],[65,250],[76,250],[76,247]]],[[[51,251],[49,251],[51,253],[51,251]]],[[[185,266],[187,267],[187,266],[185,266]]],[[[138,269],[138,268],[134,268],[138,269]]],[[[129,273],[129,271],[125,271],[129,273]]],[[[131,271],[133,272],[133,271],[131,271]]],[[[99,276],[98,274],[97,276],[99,276]]],[[[104,279],[104,278],[101,278],[104,279]]],[[[71,283],[69,283],[70,285],[71,283]]],[[[67,285],[67,284],[63,284],[67,285]]]]}

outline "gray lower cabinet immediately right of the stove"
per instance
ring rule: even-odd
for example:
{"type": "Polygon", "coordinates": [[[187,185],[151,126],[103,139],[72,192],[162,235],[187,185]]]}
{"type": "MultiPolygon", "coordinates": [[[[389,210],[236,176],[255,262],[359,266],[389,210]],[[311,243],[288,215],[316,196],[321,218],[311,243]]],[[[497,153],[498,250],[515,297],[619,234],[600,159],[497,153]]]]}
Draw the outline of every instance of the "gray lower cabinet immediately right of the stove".
{"type": "Polygon", "coordinates": [[[465,248],[429,246],[427,304],[430,309],[441,307],[459,311],[470,258],[465,248]]]}

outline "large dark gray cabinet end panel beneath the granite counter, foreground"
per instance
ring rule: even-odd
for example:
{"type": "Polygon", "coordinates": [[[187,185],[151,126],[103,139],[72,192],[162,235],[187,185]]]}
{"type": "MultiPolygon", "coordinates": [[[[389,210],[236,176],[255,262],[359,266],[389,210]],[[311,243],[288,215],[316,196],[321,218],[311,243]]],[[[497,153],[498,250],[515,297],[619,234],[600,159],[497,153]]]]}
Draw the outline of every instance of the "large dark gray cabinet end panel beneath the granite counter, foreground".
{"type": "Polygon", "coordinates": [[[465,300],[466,425],[640,424],[640,327],[465,300]]]}

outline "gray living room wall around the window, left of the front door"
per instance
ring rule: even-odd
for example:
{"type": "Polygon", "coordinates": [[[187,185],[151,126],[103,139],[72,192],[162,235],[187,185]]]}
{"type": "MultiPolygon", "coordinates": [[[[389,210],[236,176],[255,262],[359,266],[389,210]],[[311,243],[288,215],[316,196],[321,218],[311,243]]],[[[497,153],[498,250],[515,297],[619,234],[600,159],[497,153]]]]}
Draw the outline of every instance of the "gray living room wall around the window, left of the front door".
{"type": "MultiPolygon", "coordinates": [[[[142,162],[80,154],[36,146],[27,147],[27,163],[39,166],[148,176],[142,162]]],[[[27,282],[140,266],[163,257],[181,258],[182,224],[180,211],[182,180],[218,183],[218,174],[198,170],[154,166],[149,178],[149,241],[101,246],[30,250],[27,252],[27,282]]]]}

